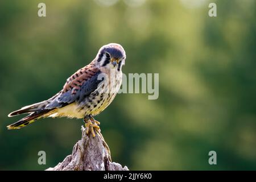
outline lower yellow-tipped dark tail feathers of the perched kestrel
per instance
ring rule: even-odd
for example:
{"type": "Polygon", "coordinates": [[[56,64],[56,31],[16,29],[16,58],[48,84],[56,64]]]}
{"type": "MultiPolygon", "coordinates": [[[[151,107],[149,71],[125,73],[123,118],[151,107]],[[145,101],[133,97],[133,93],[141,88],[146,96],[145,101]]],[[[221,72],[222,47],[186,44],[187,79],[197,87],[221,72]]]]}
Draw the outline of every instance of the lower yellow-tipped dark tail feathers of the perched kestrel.
{"type": "Polygon", "coordinates": [[[45,118],[51,115],[52,113],[54,113],[54,109],[37,110],[34,113],[31,113],[30,115],[27,115],[26,117],[20,119],[19,121],[7,126],[7,129],[9,130],[20,129],[36,121],[37,119],[45,118]]]}

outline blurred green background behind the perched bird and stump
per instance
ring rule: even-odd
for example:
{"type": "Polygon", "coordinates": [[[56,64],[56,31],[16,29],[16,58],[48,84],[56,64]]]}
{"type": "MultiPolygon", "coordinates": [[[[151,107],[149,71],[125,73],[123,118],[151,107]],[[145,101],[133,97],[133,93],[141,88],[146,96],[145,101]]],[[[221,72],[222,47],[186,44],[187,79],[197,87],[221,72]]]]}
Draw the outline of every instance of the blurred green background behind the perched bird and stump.
{"type": "Polygon", "coordinates": [[[96,117],[115,162],[256,169],[255,19],[255,0],[0,1],[0,169],[42,170],[71,154],[82,121],[47,118],[10,131],[21,117],[7,114],[53,96],[110,42],[126,49],[124,73],[159,73],[158,100],[118,94],[96,117]]]}

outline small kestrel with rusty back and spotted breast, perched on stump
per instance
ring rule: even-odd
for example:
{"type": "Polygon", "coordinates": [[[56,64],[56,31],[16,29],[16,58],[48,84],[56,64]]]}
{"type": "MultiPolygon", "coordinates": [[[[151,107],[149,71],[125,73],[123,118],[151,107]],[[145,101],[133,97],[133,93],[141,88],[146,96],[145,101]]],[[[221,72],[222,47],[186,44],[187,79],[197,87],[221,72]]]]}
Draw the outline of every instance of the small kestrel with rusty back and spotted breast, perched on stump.
{"type": "Polygon", "coordinates": [[[122,84],[122,65],[126,54],[119,44],[102,46],[95,59],[79,69],[52,98],[36,104],[22,107],[8,116],[30,113],[18,122],[7,126],[8,129],[20,129],[40,118],[68,117],[83,118],[86,133],[98,130],[100,122],[93,117],[113,101],[122,84]]]}

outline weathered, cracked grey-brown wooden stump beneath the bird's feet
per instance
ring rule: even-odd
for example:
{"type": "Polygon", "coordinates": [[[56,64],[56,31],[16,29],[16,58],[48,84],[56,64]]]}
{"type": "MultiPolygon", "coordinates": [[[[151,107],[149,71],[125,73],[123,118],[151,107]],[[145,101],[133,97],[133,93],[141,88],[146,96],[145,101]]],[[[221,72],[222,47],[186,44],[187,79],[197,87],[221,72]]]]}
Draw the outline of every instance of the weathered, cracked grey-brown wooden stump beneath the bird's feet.
{"type": "Polygon", "coordinates": [[[96,137],[87,135],[82,127],[82,138],[73,147],[71,155],[47,171],[128,171],[121,164],[112,162],[110,150],[100,131],[96,137]]]}

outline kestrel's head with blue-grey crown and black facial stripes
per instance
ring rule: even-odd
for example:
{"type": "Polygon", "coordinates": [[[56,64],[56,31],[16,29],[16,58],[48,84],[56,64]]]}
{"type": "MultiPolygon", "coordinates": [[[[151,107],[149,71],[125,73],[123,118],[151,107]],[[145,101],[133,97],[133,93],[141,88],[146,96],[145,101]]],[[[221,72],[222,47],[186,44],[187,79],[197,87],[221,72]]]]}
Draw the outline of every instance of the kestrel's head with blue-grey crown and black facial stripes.
{"type": "Polygon", "coordinates": [[[110,43],[100,48],[96,60],[101,67],[115,68],[118,71],[125,64],[125,49],[120,44],[110,43]]]}

